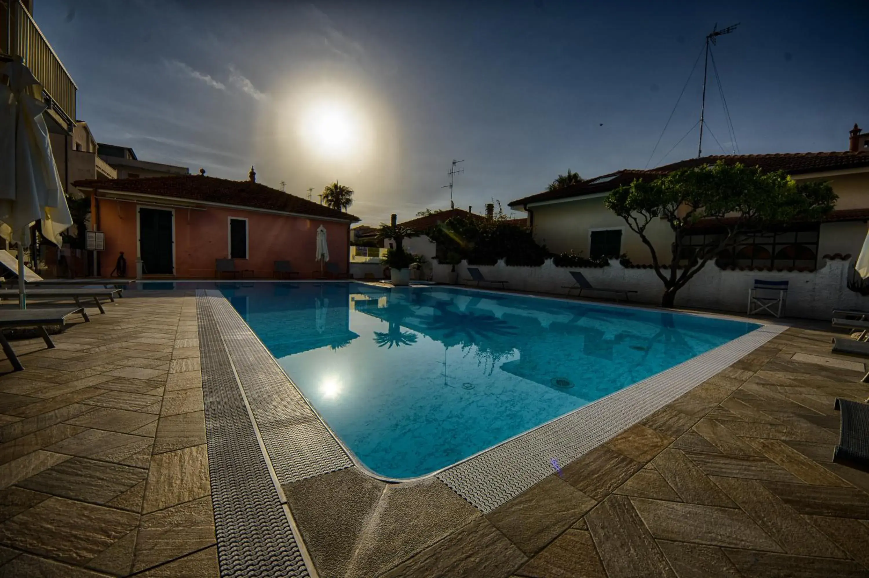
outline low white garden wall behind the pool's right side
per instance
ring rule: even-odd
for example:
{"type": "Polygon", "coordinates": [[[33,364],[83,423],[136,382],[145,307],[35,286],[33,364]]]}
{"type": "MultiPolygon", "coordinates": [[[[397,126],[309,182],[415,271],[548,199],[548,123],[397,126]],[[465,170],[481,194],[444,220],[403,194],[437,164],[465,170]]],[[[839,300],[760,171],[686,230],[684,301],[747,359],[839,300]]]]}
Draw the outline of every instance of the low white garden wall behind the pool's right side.
{"type": "MultiPolygon", "coordinates": [[[[760,271],[723,271],[714,263],[691,279],[687,286],[676,294],[676,306],[718,309],[722,311],[746,312],[748,291],[754,279],[770,281],[786,280],[788,286],[786,315],[809,319],[830,319],[833,309],[869,309],[869,297],[852,292],[847,287],[848,272],[852,261],[824,260],[817,271],[811,273],[760,272],[760,271]]],[[[475,266],[486,279],[506,280],[507,288],[519,291],[561,293],[567,292],[562,286],[574,285],[570,271],[581,271],[593,286],[634,289],[631,300],[640,303],[660,305],[664,285],[653,269],[639,267],[626,268],[615,259],[610,266],[594,267],[556,267],[552,259],[539,267],[507,266],[504,260],[494,266],[475,266]]],[[[446,283],[450,266],[434,261],[434,281],[446,283]]],[[[462,261],[455,266],[461,279],[469,279],[468,263],[462,261]]],[[[488,284],[482,284],[488,286],[488,284]]],[[[574,292],[575,294],[575,292],[574,292]]],[[[600,293],[589,293],[591,296],[600,293]]],[[[583,295],[584,296],[584,295],[583,295]]]]}

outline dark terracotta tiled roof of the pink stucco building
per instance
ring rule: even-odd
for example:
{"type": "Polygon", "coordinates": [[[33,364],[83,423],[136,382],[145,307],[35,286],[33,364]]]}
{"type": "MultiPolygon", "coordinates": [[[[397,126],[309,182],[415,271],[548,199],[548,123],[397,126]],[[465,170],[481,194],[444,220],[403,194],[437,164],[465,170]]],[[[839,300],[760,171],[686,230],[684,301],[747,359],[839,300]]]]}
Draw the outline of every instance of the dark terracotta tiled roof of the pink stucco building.
{"type": "Polygon", "coordinates": [[[251,207],[302,214],[309,217],[324,217],[357,221],[349,213],[342,213],[319,203],[302,199],[294,194],[283,193],[258,182],[229,181],[215,177],[183,174],[178,176],[148,177],[143,179],[87,180],[73,183],[79,189],[98,188],[102,191],[120,193],[154,194],[173,199],[199,200],[221,203],[235,207],[251,207]]]}

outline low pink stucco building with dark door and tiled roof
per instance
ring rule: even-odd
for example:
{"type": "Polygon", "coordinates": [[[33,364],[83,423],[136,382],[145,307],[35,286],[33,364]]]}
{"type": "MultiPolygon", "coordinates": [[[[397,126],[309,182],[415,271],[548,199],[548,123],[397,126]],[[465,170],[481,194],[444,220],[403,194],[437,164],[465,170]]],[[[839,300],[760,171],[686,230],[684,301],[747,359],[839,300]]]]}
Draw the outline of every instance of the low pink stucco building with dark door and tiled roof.
{"type": "Polygon", "coordinates": [[[105,234],[96,276],[108,276],[123,252],[127,276],[202,279],[216,276],[216,259],[271,278],[289,260],[302,278],[320,270],[316,230],[327,231],[328,270],[348,273],[350,224],[359,220],[254,181],[204,175],[76,181],[90,195],[91,228],[105,234]]]}

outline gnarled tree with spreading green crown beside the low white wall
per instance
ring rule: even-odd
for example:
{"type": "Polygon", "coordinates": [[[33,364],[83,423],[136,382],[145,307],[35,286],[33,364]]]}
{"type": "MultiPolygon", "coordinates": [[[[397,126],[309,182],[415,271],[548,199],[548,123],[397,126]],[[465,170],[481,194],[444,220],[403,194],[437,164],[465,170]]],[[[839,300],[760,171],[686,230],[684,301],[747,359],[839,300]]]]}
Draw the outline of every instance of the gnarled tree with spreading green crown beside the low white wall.
{"type": "Polygon", "coordinates": [[[764,173],[760,167],[718,161],[683,168],[654,181],[636,179],[608,194],[604,204],[625,220],[652,253],[654,272],[664,283],[661,305],[672,307],[676,292],[709,259],[733,248],[742,233],[794,220],[819,220],[833,210],[837,198],[826,182],[798,184],[784,171],[764,173]],[[647,235],[647,227],[659,220],[673,231],[669,263],[647,235]],[[700,220],[719,227],[722,233],[705,246],[687,246],[686,237],[700,220]]]}

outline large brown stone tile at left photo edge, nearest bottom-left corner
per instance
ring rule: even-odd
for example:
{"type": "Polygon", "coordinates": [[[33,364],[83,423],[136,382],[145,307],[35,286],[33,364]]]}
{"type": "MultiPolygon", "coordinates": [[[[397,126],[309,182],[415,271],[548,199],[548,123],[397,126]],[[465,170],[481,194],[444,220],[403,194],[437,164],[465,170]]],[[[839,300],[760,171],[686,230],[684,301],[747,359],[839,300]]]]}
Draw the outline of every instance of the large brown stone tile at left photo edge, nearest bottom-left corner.
{"type": "Polygon", "coordinates": [[[0,524],[0,542],[83,565],[136,528],[138,516],[51,497],[0,524]]]}

